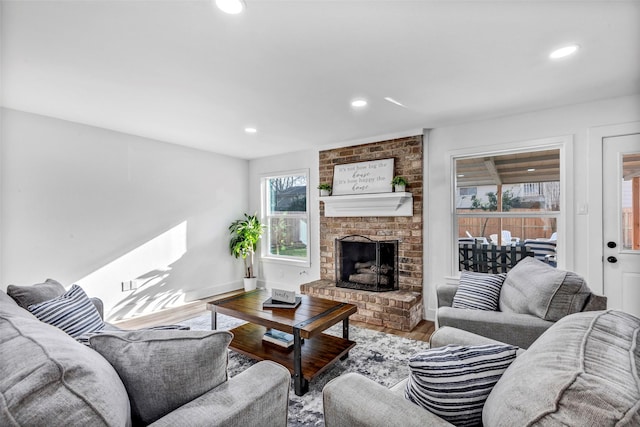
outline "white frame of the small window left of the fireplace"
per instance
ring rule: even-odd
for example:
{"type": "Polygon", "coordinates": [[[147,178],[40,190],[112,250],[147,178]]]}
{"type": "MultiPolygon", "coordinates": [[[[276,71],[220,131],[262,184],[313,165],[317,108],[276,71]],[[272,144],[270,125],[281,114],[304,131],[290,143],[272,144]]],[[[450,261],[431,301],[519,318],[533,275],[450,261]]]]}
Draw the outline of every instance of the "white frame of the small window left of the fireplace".
{"type": "Polygon", "coordinates": [[[310,218],[310,212],[309,212],[309,206],[310,206],[310,199],[309,199],[309,184],[310,184],[310,174],[309,174],[309,169],[296,169],[296,170],[290,170],[290,171],[282,171],[282,172],[274,172],[274,173],[267,173],[267,174],[262,174],[260,175],[260,195],[261,195],[261,214],[260,214],[260,218],[263,224],[266,225],[266,229],[265,229],[265,236],[263,236],[261,240],[261,244],[260,244],[260,259],[263,262],[267,262],[267,263],[278,263],[278,264],[287,264],[287,265],[295,265],[298,267],[310,267],[311,266],[311,256],[310,256],[310,252],[311,252],[311,236],[310,236],[310,232],[311,232],[311,225],[309,223],[309,218],[310,218]],[[286,177],[286,176],[300,176],[300,175],[304,175],[306,180],[307,180],[307,189],[306,189],[306,205],[307,205],[307,209],[306,212],[304,213],[299,213],[299,214],[286,214],[286,215],[268,215],[268,209],[269,209],[269,192],[268,192],[268,188],[267,188],[267,182],[269,179],[272,178],[280,178],[280,177],[286,177]],[[273,255],[271,253],[269,253],[269,242],[270,242],[270,230],[269,230],[269,226],[270,226],[270,221],[269,218],[271,217],[283,217],[283,218],[299,218],[302,219],[306,222],[306,226],[307,226],[307,256],[306,258],[301,258],[301,257],[291,257],[291,256],[285,256],[285,255],[273,255]]]}

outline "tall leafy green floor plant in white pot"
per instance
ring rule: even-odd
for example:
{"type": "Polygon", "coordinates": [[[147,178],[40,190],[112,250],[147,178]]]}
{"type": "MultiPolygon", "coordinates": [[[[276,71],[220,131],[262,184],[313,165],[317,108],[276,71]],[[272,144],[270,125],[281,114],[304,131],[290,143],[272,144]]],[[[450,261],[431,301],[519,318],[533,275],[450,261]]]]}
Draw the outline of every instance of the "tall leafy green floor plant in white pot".
{"type": "Polygon", "coordinates": [[[244,290],[256,288],[258,279],[253,274],[253,256],[258,248],[258,241],[264,232],[257,214],[244,214],[243,219],[235,220],[229,226],[231,241],[229,251],[236,258],[242,257],[244,262],[244,290]]]}

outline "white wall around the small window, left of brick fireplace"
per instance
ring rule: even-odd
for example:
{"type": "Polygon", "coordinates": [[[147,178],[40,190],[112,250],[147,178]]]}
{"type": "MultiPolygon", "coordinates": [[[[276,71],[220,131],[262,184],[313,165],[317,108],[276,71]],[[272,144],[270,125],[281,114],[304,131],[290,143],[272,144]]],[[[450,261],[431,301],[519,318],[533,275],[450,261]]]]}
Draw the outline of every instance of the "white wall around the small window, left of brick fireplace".
{"type": "MultiPolygon", "coordinates": [[[[318,200],[318,151],[308,150],[264,157],[249,164],[250,212],[260,213],[260,177],[274,172],[309,169],[309,258],[310,267],[293,266],[276,261],[260,261],[258,281],[267,288],[300,291],[300,285],[320,279],[320,221],[318,200]]],[[[258,256],[257,259],[260,259],[258,256]]]]}

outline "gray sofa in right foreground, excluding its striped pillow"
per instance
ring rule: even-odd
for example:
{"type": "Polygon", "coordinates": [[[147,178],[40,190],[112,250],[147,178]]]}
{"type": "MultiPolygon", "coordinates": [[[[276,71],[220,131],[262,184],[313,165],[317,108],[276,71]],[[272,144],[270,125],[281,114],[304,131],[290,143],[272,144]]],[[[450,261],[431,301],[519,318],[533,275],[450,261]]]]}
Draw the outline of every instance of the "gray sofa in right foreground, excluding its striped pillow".
{"type": "MultiPolygon", "coordinates": [[[[496,343],[443,327],[432,347],[496,343]]],[[[640,319],[619,311],[563,317],[520,350],[482,408],[485,427],[640,425],[640,319]]],[[[323,390],[327,427],[451,426],[404,396],[358,374],[323,390]]]]}

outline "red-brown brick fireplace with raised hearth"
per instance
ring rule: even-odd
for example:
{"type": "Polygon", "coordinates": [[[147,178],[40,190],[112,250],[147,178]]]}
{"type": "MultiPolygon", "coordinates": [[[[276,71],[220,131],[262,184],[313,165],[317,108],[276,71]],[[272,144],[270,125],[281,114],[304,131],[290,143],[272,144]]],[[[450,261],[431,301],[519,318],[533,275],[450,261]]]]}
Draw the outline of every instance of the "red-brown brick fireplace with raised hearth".
{"type": "Polygon", "coordinates": [[[422,135],[320,152],[320,182],[331,183],[335,165],[394,159],[394,175],[407,178],[413,196],[412,216],[327,217],[320,202],[320,277],[301,285],[302,293],[358,306],[355,321],[412,330],[422,319],[423,280],[423,144],[422,135]],[[336,239],[359,235],[398,241],[398,290],[371,292],[336,287],[336,239]]]}

